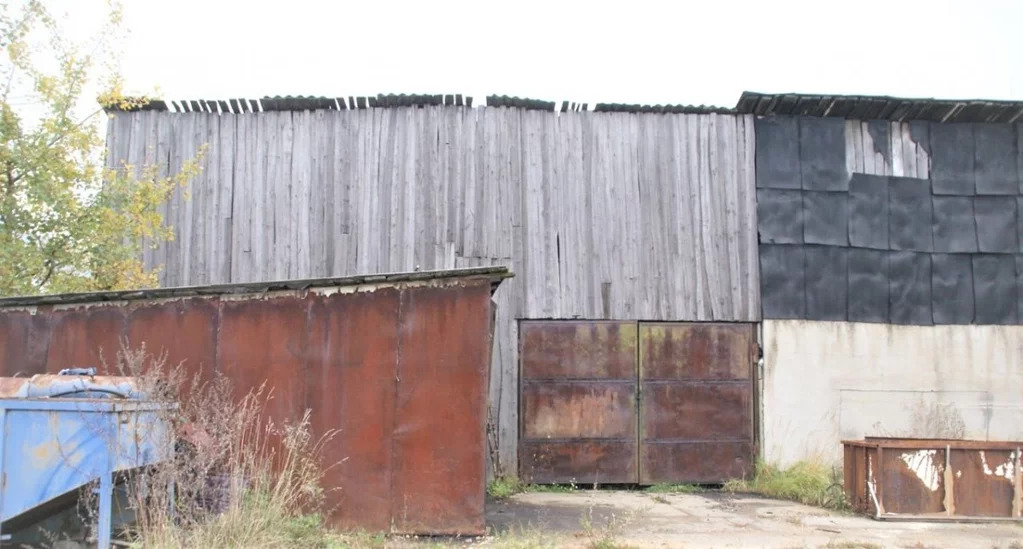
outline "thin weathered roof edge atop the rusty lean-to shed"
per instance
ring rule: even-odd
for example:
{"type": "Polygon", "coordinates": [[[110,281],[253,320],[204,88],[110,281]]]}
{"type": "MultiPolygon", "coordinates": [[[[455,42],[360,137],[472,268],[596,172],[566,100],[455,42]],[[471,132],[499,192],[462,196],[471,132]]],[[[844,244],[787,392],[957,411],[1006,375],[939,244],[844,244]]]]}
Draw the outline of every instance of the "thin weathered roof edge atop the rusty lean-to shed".
{"type": "Polygon", "coordinates": [[[40,305],[68,305],[116,301],[160,300],[168,298],[228,295],[238,293],[264,293],[278,290],[302,290],[332,286],[356,286],[362,284],[399,284],[402,282],[480,277],[490,279],[490,291],[493,292],[497,289],[497,286],[502,280],[514,276],[515,274],[506,266],[492,266],[438,271],[379,273],[344,277],[301,278],[294,280],[273,280],[267,282],[241,282],[151,289],[90,291],[82,293],[51,293],[45,295],[15,295],[11,298],[0,298],[0,309],[8,307],[35,307],[40,305]]]}

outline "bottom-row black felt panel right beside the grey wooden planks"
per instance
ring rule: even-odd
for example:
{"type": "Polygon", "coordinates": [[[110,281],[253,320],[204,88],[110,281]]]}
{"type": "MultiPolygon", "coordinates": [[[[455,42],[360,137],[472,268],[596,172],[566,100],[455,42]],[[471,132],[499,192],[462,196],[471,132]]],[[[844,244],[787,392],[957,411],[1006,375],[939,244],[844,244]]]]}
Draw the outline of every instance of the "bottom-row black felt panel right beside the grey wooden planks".
{"type": "Polygon", "coordinates": [[[803,246],[760,245],[760,293],[764,318],[806,317],[803,268],[803,246]]]}

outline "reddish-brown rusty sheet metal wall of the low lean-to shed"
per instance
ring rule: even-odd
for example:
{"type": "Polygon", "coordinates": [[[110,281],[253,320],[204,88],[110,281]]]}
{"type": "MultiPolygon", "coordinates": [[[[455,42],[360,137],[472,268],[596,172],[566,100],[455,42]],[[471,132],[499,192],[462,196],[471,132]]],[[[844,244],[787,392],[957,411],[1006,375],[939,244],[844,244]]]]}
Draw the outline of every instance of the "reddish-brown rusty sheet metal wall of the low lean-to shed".
{"type": "Polygon", "coordinates": [[[483,534],[491,290],[500,277],[0,307],[0,375],[113,363],[119,340],[264,382],[276,421],[337,429],[323,462],[340,527],[483,534]]]}

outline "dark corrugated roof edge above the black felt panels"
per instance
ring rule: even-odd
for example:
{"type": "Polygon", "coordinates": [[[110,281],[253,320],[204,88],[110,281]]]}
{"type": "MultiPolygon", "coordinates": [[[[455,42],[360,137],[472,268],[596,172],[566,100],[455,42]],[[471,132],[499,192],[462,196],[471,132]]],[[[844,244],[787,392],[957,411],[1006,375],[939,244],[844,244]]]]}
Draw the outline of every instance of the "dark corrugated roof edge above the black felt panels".
{"type": "Polygon", "coordinates": [[[902,122],[995,122],[1023,120],[1023,101],[910,99],[865,95],[744,92],[736,110],[759,116],[794,115],[902,122]]]}

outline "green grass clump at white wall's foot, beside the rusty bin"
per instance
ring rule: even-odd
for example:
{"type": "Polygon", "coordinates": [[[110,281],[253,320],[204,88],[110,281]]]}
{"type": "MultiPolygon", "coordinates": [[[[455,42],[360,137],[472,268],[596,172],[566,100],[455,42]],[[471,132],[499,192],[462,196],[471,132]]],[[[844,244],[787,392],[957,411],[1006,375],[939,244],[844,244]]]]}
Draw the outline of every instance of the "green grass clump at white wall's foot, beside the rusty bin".
{"type": "Polygon", "coordinates": [[[812,461],[800,461],[787,469],[758,462],[752,478],[728,481],[722,489],[828,509],[849,509],[842,487],[841,470],[812,461]]]}

